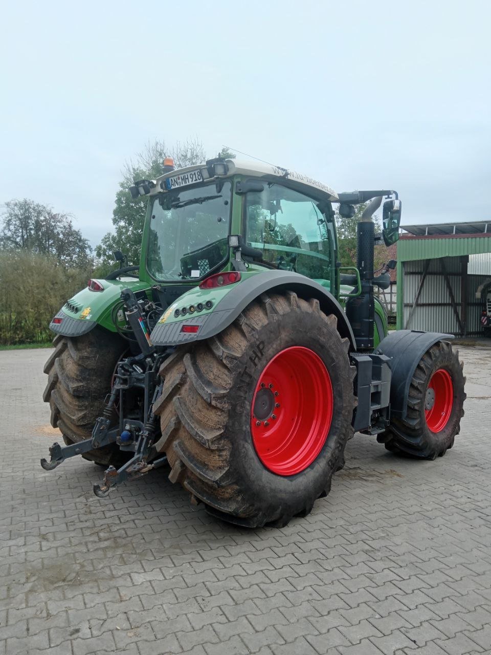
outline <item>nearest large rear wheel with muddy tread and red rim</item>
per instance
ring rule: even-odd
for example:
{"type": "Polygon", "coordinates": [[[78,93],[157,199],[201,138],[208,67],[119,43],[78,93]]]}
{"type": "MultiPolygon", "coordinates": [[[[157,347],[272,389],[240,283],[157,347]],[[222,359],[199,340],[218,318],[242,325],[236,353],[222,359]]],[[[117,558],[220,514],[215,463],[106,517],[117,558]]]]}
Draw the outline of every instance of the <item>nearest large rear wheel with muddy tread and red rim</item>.
{"type": "Polygon", "coordinates": [[[287,293],[263,295],[216,337],[177,348],[154,407],[170,480],[238,525],[308,514],[352,434],[348,347],[335,316],[287,293]]]}

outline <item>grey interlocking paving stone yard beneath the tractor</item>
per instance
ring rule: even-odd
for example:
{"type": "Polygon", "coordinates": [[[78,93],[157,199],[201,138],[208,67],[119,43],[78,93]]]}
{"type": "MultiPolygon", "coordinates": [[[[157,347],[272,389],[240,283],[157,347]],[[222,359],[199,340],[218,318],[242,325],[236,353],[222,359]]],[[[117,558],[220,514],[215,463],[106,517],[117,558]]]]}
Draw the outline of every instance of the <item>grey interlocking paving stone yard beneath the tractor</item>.
{"type": "Polygon", "coordinates": [[[156,471],[101,500],[82,459],[45,472],[48,350],[0,352],[0,655],[491,652],[491,349],[434,462],[348,443],[311,515],[236,529],[156,471]]]}

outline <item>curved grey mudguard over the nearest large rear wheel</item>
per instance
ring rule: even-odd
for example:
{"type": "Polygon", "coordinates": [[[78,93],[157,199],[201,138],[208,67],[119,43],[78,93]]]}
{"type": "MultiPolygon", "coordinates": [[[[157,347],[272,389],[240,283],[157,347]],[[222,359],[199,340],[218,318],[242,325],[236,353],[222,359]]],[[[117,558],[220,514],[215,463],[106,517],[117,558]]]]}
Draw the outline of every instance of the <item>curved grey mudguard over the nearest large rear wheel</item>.
{"type": "MultiPolygon", "coordinates": [[[[199,288],[188,291],[173,303],[151,333],[151,341],[156,346],[174,346],[190,341],[201,341],[217,335],[228,327],[261,293],[268,291],[295,291],[302,298],[316,298],[321,309],[328,314],[335,314],[338,319],[338,331],[342,337],[350,339],[351,350],[356,350],[355,338],[341,305],[323,286],[306,278],[304,275],[290,271],[264,271],[244,276],[241,282],[223,287],[225,292],[219,301],[215,301],[212,311],[202,314],[189,314],[175,318],[173,312],[186,305],[204,303],[209,291],[199,288]],[[183,324],[199,326],[197,333],[183,332],[183,324]]],[[[212,297],[212,296],[211,296],[212,297]]]]}

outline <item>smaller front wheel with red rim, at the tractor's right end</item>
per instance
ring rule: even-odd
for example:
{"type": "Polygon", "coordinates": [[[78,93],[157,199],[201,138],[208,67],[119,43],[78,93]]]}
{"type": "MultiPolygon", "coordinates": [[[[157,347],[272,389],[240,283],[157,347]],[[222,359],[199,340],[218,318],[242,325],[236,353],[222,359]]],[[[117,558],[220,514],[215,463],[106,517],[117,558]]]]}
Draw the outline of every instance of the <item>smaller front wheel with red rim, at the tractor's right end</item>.
{"type": "Polygon", "coordinates": [[[412,376],[405,419],[393,419],[377,440],[391,452],[429,460],[443,457],[454,445],[464,416],[463,367],[448,341],[431,346],[412,376]]]}

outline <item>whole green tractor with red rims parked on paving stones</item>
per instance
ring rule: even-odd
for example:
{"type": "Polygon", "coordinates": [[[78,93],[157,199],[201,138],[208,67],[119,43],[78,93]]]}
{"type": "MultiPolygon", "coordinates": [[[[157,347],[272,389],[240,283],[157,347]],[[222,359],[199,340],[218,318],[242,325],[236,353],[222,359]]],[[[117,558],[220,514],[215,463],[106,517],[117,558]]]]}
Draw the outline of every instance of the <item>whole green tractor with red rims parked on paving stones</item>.
{"type": "Polygon", "coordinates": [[[452,447],[465,393],[449,335],[388,335],[374,299],[395,265],[374,274],[374,243],[398,238],[395,191],[221,158],[130,191],[149,198],[139,266],[116,253],[50,324],[44,400],[65,445],[43,468],[82,455],[107,468],[105,496],[165,465],[211,514],[282,526],[329,493],[355,431],[422,459],[452,447]],[[350,217],[367,201],[343,269],[333,204],[350,217]]]}

